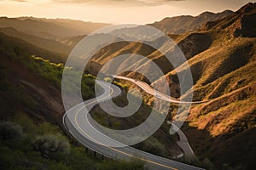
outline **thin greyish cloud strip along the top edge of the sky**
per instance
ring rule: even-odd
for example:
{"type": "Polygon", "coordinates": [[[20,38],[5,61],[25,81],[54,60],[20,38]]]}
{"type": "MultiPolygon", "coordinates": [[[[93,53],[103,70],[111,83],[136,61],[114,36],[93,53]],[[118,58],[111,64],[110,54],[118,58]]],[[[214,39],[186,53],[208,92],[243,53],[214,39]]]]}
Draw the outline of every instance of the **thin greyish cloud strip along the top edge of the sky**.
{"type": "Polygon", "coordinates": [[[123,6],[159,6],[163,4],[169,4],[173,1],[184,1],[184,0],[52,0],[57,3],[84,3],[84,4],[113,4],[123,6]]]}

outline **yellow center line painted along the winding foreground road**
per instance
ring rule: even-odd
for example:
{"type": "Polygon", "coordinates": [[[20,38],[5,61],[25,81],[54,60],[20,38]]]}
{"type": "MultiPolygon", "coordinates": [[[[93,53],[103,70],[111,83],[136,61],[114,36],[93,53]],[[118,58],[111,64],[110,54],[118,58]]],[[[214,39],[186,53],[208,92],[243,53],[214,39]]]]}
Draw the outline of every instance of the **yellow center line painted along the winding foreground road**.
{"type": "MultiPolygon", "coordinates": [[[[110,96],[113,94],[113,88],[110,88],[110,89],[111,89],[110,94],[108,94],[107,96],[103,97],[102,99],[106,99],[106,98],[110,97],[110,96]]],[[[96,103],[96,102],[97,102],[97,100],[92,101],[92,102],[90,102],[90,103],[84,105],[82,108],[79,109],[79,111],[81,111],[82,109],[84,109],[86,106],[91,105],[91,104],[94,104],[94,103],[96,103]]],[[[126,153],[126,152],[124,152],[124,151],[114,149],[114,148],[112,148],[112,147],[110,147],[110,146],[108,146],[108,145],[106,145],[106,144],[102,144],[101,142],[97,141],[96,139],[94,139],[93,137],[91,137],[88,133],[84,132],[84,130],[82,129],[82,127],[79,126],[79,123],[78,123],[78,120],[77,120],[77,116],[78,116],[78,114],[79,114],[79,111],[77,111],[76,114],[75,114],[75,122],[76,122],[77,126],[79,127],[79,129],[80,129],[86,136],[88,136],[90,139],[94,140],[94,141],[96,142],[96,144],[101,144],[101,145],[107,147],[108,149],[117,151],[117,152],[119,152],[119,153],[121,153],[121,154],[124,154],[125,156],[135,157],[135,158],[137,158],[137,159],[139,159],[139,160],[147,161],[147,162],[149,162],[149,163],[153,163],[153,164],[155,164],[155,165],[159,165],[160,167],[167,167],[167,168],[170,168],[170,169],[172,169],[172,170],[177,170],[177,168],[169,167],[169,166],[160,164],[160,163],[158,163],[158,162],[150,161],[150,160],[147,160],[147,159],[138,157],[138,156],[133,156],[133,155],[128,154],[128,153],[126,153]]]]}

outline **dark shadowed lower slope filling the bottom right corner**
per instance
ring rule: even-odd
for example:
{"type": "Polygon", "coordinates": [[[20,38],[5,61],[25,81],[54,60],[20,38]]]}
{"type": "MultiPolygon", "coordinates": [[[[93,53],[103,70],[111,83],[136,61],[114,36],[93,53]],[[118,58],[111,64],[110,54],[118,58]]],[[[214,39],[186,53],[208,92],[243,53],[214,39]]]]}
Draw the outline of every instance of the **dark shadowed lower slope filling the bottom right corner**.
{"type": "Polygon", "coordinates": [[[256,128],[247,129],[241,133],[212,137],[206,130],[182,127],[189,139],[189,144],[195,155],[212,162],[213,169],[253,169],[256,167],[255,156],[256,128]]]}

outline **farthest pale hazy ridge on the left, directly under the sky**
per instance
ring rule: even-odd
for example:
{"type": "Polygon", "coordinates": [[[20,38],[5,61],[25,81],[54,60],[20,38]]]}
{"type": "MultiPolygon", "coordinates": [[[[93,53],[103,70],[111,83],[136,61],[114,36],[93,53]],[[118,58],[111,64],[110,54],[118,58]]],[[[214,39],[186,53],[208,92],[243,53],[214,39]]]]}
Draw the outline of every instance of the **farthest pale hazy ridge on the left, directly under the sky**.
{"type": "Polygon", "coordinates": [[[34,17],[0,18],[0,28],[12,27],[17,31],[48,39],[87,35],[103,26],[109,26],[109,24],[34,17]]]}

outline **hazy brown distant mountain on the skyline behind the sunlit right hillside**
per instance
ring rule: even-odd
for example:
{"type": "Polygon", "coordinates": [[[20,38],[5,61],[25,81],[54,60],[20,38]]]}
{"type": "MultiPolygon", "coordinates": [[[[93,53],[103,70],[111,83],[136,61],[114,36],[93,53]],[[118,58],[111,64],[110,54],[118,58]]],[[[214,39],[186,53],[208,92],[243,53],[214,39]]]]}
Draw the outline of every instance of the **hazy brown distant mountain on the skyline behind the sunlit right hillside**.
{"type": "Polygon", "coordinates": [[[183,15],[167,17],[163,20],[154,22],[153,24],[148,24],[148,26],[153,26],[160,31],[164,31],[166,34],[183,34],[187,31],[196,31],[207,21],[222,19],[230,14],[234,14],[234,12],[225,10],[224,12],[217,14],[204,12],[198,16],[183,15]]]}

